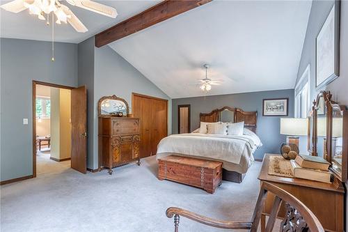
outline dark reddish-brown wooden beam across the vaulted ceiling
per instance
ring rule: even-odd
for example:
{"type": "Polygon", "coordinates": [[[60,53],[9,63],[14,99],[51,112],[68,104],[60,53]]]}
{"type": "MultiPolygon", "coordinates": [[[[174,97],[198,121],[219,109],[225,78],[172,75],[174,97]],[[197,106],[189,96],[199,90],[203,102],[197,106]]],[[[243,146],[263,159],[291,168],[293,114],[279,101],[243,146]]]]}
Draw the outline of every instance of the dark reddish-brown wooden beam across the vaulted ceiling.
{"type": "Polygon", "coordinates": [[[120,22],[95,36],[95,46],[102,47],[110,42],[141,31],[171,17],[180,15],[212,0],[166,0],[144,10],[128,20],[120,22]]]}

